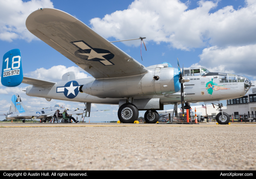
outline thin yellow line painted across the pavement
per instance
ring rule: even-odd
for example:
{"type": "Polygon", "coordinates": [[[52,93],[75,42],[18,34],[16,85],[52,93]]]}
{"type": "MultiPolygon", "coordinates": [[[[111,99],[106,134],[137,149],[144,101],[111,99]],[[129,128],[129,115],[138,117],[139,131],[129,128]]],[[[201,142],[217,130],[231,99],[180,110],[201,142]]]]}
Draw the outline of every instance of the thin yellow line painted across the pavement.
{"type": "Polygon", "coordinates": [[[218,126],[199,126],[199,125],[193,125],[193,126],[188,126],[188,125],[177,125],[177,126],[169,126],[169,125],[86,125],[86,126],[1,126],[1,128],[12,128],[12,127],[231,127],[231,126],[236,126],[236,127],[255,127],[254,126],[238,126],[238,125],[218,125],[218,126]]]}

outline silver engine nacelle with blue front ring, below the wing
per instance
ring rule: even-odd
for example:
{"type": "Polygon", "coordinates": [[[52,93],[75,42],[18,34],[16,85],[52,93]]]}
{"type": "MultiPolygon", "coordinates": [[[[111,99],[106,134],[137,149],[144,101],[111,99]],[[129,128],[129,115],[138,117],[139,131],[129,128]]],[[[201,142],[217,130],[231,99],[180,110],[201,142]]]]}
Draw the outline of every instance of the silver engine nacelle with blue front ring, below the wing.
{"type": "Polygon", "coordinates": [[[180,90],[178,69],[156,68],[140,76],[95,79],[82,86],[84,93],[100,98],[171,94],[180,90]]]}

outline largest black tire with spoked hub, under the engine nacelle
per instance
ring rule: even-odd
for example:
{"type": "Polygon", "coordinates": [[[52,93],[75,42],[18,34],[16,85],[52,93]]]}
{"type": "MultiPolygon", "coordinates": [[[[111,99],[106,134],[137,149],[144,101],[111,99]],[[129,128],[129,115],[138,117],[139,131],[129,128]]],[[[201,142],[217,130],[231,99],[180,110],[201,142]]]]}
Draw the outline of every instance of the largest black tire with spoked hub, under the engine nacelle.
{"type": "Polygon", "coordinates": [[[118,109],[117,116],[122,123],[134,123],[139,117],[139,111],[134,104],[124,103],[118,109]]]}

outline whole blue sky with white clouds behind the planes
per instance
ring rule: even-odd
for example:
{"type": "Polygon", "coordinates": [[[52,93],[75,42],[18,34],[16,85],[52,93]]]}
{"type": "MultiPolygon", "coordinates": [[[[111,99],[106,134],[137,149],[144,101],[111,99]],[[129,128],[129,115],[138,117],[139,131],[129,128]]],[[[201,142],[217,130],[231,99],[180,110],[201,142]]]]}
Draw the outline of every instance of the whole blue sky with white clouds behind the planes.
{"type": "MultiPolygon", "coordinates": [[[[143,62],[140,57],[140,40],[115,43],[145,66],[170,62],[176,67],[178,57],[184,67],[203,66],[212,72],[246,76],[254,83],[254,65],[245,65],[244,62],[255,63],[255,5],[254,0],[163,0],[157,4],[151,0],[2,1],[0,54],[3,56],[10,49],[19,48],[24,76],[58,82],[63,75],[61,72],[70,69],[76,71],[77,76],[90,76],[25,30],[25,20],[31,12],[40,7],[54,7],[75,16],[110,41],[147,37],[147,51],[142,49],[143,62]],[[103,28],[106,25],[109,28],[103,28]],[[60,68],[58,65],[63,66],[60,68]],[[58,73],[58,69],[64,70],[58,73]]],[[[31,107],[43,108],[55,104],[71,109],[83,107],[79,103],[59,100],[47,102],[44,98],[26,96],[22,92],[26,86],[21,84],[13,89],[0,86],[0,110],[9,109],[11,96],[15,92],[31,107]]],[[[223,104],[226,102],[223,101],[223,104]]],[[[103,118],[118,120],[118,106],[94,104],[92,107],[111,111],[92,115],[91,121],[101,121],[103,118]]],[[[166,105],[165,108],[172,109],[172,105],[166,105]]],[[[143,111],[140,116],[144,116],[143,111]]]]}

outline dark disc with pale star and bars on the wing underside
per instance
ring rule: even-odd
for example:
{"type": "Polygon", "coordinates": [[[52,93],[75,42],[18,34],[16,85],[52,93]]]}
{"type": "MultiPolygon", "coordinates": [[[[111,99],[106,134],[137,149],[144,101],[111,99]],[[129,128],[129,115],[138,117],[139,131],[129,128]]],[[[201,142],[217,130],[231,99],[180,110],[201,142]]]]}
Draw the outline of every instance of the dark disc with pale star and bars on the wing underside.
{"type": "Polygon", "coordinates": [[[114,58],[115,55],[110,51],[101,48],[92,48],[83,40],[70,43],[79,48],[79,50],[75,51],[76,57],[83,60],[100,62],[105,66],[114,65],[110,60],[114,58]]]}

